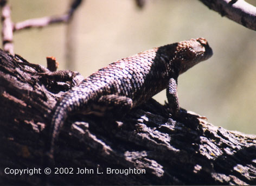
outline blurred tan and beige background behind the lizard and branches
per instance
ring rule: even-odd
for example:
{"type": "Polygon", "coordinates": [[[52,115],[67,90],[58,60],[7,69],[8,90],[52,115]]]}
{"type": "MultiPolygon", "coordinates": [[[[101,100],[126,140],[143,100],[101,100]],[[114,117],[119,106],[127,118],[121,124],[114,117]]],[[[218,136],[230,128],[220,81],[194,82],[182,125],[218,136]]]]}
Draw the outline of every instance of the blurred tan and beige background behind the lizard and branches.
{"type": "MultiPolygon", "coordinates": [[[[59,15],[66,0],[9,0],[13,22],[59,15]]],[[[247,1],[256,6],[256,1],[247,1]]],[[[183,108],[208,118],[215,126],[256,134],[256,33],[221,17],[199,1],[146,1],[140,10],[132,0],[86,0],[71,25],[55,24],[14,34],[14,51],[46,66],[55,56],[59,69],[85,77],[108,63],[165,44],[205,37],[214,55],[178,79],[183,108]],[[71,65],[67,59],[67,33],[71,65]]],[[[154,97],[164,103],[165,91],[154,97]]]]}

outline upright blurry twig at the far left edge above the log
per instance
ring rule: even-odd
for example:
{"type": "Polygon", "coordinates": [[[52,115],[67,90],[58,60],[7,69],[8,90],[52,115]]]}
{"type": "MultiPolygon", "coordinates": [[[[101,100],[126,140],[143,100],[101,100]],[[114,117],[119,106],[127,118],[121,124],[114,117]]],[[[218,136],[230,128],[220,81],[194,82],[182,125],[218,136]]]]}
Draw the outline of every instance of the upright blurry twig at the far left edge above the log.
{"type": "Polygon", "coordinates": [[[0,1],[1,6],[1,20],[2,20],[2,42],[5,52],[14,55],[14,44],[12,43],[12,22],[11,22],[11,9],[7,1],[0,1]]]}

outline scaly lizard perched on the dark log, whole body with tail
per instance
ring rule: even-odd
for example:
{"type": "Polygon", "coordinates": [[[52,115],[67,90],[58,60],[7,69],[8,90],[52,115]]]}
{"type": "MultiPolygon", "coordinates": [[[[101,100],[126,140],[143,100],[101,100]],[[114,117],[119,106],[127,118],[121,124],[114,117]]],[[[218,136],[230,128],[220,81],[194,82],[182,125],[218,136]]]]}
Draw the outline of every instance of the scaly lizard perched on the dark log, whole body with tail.
{"type": "Polygon", "coordinates": [[[212,48],[201,37],[123,58],[89,75],[55,105],[47,156],[54,159],[54,146],[61,127],[73,112],[102,116],[105,106],[127,113],[166,88],[170,113],[178,116],[181,110],[178,75],[212,55],[212,48]]]}

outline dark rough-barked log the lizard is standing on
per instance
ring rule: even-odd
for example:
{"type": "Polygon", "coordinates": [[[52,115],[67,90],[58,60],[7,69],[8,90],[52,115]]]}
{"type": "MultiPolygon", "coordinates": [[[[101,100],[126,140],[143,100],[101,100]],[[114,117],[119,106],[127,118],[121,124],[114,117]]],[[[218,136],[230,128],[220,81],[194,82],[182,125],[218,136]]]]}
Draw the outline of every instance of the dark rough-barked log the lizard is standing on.
{"type": "Polygon", "coordinates": [[[255,136],[189,113],[173,118],[153,99],[121,121],[73,114],[60,134],[55,164],[74,168],[74,174],[44,175],[52,110],[72,86],[50,80],[44,70],[0,50],[0,184],[256,184],[255,136]],[[42,174],[15,176],[5,168],[41,168],[42,174]],[[94,172],[76,174],[77,168],[94,172]],[[145,174],[106,174],[107,168],[145,169],[145,174]]]}

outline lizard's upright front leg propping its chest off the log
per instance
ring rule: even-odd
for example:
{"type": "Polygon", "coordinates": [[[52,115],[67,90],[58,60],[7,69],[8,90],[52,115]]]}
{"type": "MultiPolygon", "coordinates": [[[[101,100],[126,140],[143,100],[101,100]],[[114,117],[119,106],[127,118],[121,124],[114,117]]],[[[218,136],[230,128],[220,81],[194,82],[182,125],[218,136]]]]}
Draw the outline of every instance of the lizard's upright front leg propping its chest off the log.
{"type": "Polygon", "coordinates": [[[171,78],[168,82],[167,99],[171,114],[177,116],[180,112],[180,104],[178,102],[177,80],[174,78],[171,78]]]}

